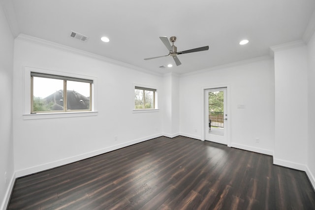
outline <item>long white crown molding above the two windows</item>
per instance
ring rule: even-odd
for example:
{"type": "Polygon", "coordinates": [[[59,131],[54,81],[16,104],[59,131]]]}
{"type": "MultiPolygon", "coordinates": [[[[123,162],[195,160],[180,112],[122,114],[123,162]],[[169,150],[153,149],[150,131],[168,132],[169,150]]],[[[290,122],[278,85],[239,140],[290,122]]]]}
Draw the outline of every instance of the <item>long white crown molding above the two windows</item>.
{"type": "Polygon", "coordinates": [[[15,39],[16,40],[25,41],[25,42],[34,43],[34,44],[39,44],[39,45],[42,45],[42,46],[51,47],[51,48],[55,48],[55,49],[59,49],[59,50],[63,50],[63,51],[66,51],[66,52],[75,53],[75,54],[78,54],[78,55],[81,55],[81,56],[86,56],[86,57],[90,57],[90,58],[97,59],[97,60],[102,60],[102,61],[105,61],[105,62],[108,62],[108,63],[112,63],[112,64],[119,65],[119,66],[122,66],[122,67],[126,67],[126,68],[129,68],[129,69],[140,71],[140,72],[143,72],[143,73],[152,74],[152,75],[155,75],[155,76],[163,76],[162,73],[152,72],[152,71],[140,68],[138,66],[134,66],[134,65],[131,65],[131,64],[128,64],[128,63],[124,63],[124,62],[119,61],[119,60],[110,59],[110,58],[107,58],[107,57],[104,57],[104,56],[100,56],[100,55],[97,55],[97,54],[94,54],[94,53],[90,53],[90,52],[87,52],[87,51],[84,51],[84,50],[79,50],[79,49],[76,49],[76,48],[73,48],[73,47],[68,47],[66,45],[58,44],[56,42],[47,41],[45,39],[40,39],[40,38],[37,38],[37,37],[34,37],[34,36],[30,36],[30,35],[26,35],[26,34],[23,34],[23,33],[19,34],[15,39]]]}

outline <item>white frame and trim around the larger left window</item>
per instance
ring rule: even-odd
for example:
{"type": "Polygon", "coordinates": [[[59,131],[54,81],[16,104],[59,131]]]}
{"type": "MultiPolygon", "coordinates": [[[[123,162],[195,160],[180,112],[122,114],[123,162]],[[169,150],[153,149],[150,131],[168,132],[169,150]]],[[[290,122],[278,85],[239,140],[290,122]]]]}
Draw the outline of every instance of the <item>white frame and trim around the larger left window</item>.
{"type": "Polygon", "coordinates": [[[96,84],[97,78],[93,76],[87,75],[79,75],[62,71],[53,71],[41,68],[34,68],[29,66],[24,66],[24,120],[35,120],[35,119],[49,119],[49,118],[68,118],[68,117],[85,117],[85,116],[95,116],[97,115],[96,109],[96,84]],[[47,112],[47,113],[34,113],[31,114],[31,72],[36,72],[40,74],[50,74],[50,75],[58,75],[62,77],[72,77],[72,78],[81,78],[86,80],[93,80],[92,84],[92,107],[91,111],[77,111],[77,112],[47,112]]]}

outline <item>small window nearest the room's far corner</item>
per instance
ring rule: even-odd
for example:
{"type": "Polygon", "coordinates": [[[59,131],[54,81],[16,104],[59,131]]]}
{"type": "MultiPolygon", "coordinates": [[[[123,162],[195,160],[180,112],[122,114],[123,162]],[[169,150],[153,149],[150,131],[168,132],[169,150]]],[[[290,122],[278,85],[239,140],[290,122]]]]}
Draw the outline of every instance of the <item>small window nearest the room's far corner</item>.
{"type": "Polygon", "coordinates": [[[134,109],[156,109],[156,89],[134,87],[134,109]]]}

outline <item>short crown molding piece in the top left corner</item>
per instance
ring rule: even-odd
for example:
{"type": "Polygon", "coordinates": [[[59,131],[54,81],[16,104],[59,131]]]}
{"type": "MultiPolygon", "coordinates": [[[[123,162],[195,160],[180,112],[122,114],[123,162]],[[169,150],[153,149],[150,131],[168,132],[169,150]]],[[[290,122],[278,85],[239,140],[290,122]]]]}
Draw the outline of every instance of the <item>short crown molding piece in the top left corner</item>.
{"type": "Polygon", "coordinates": [[[18,22],[15,17],[15,10],[12,0],[0,0],[5,18],[10,27],[13,37],[17,37],[20,33],[18,22]]]}

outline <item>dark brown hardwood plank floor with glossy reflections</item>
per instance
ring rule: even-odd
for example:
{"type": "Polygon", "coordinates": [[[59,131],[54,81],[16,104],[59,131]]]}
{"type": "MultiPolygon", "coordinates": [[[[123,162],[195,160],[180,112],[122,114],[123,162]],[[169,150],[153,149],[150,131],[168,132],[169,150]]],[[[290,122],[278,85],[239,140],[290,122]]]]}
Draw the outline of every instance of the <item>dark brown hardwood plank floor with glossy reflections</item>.
{"type": "Polygon", "coordinates": [[[159,137],[17,179],[8,209],[315,210],[315,192],[271,156],[159,137]]]}

